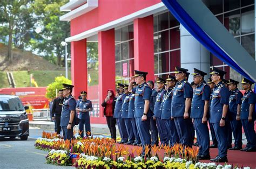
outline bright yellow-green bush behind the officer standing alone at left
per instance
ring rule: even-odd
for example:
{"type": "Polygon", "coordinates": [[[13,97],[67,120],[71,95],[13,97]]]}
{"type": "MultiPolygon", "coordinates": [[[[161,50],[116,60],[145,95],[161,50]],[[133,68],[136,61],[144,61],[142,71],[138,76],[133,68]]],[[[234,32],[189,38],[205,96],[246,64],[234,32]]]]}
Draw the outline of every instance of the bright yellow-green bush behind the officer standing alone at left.
{"type": "Polygon", "coordinates": [[[46,88],[46,94],[45,97],[52,99],[56,97],[56,90],[60,90],[63,88],[62,83],[66,83],[71,85],[72,81],[69,79],[66,79],[64,76],[58,76],[55,78],[55,81],[50,83],[48,87],[46,88]]]}

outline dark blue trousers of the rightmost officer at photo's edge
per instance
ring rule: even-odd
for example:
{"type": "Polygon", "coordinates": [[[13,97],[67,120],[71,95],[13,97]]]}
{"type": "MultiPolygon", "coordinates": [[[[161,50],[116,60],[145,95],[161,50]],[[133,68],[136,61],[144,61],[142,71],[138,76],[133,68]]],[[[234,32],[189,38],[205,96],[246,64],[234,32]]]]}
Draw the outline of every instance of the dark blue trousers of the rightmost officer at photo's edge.
{"type": "Polygon", "coordinates": [[[247,140],[246,147],[248,148],[255,148],[256,147],[256,138],[255,138],[255,131],[254,131],[254,119],[251,122],[248,122],[248,119],[242,119],[242,127],[245,131],[245,136],[247,140]]]}

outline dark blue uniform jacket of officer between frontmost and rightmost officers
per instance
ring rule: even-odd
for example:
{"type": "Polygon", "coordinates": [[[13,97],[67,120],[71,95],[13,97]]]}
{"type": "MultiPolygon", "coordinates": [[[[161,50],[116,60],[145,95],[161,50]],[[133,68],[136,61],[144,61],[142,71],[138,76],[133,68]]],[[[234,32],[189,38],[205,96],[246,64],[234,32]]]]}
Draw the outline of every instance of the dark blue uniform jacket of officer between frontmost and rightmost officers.
{"type": "Polygon", "coordinates": [[[242,93],[238,88],[230,91],[230,99],[228,101],[228,111],[230,112],[230,118],[235,120],[237,116],[237,105],[242,104],[242,93]]]}

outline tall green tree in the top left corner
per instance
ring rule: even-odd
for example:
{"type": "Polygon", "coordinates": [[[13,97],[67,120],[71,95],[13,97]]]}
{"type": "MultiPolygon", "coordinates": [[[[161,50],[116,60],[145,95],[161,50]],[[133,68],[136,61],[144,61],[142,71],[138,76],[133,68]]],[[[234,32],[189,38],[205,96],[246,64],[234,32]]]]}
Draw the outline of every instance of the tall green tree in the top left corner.
{"type": "Polygon", "coordinates": [[[0,1],[0,22],[2,23],[0,38],[8,44],[7,57],[11,62],[13,60],[12,46],[23,49],[30,40],[33,26],[31,2],[32,0],[0,1]]]}

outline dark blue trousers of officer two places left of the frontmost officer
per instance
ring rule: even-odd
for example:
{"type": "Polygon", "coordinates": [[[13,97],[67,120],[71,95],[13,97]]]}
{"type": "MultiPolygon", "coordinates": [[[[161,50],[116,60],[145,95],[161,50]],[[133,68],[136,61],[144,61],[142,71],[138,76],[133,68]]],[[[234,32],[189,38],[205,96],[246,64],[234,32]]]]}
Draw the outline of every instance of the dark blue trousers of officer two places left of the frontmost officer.
{"type": "Polygon", "coordinates": [[[191,118],[174,117],[174,123],[179,135],[180,144],[192,147],[194,142],[194,128],[191,118]]]}

